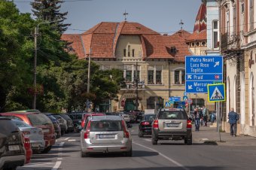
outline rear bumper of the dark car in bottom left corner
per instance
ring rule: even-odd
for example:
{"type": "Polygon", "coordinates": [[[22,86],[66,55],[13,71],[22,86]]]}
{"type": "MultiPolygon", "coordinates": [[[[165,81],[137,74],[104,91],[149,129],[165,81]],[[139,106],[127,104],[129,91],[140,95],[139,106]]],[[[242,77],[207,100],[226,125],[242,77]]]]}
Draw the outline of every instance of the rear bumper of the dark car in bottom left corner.
{"type": "Polygon", "coordinates": [[[2,156],[0,158],[0,167],[2,168],[14,168],[17,166],[22,166],[26,162],[25,155],[16,156],[2,156]]]}

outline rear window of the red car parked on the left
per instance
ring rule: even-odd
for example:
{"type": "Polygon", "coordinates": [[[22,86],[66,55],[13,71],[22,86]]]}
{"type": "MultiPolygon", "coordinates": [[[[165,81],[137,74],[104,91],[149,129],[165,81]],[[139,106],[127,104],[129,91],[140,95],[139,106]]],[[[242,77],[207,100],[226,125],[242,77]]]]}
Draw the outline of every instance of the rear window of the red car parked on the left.
{"type": "Polygon", "coordinates": [[[44,114],[28,114],[32,126],[42,126],[51,124],[50,118],[44,114]]]}

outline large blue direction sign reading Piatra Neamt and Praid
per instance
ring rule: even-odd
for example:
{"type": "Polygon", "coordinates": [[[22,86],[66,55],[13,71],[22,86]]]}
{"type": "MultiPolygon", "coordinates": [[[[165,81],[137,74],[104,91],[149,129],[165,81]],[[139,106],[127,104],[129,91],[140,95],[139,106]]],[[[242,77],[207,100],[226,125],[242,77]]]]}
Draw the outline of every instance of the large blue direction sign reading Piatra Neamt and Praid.
{"type": "Polygon", "coordinates": [[[207,85],[222,83],[222,56],[186,56],[186,93],[207,93],[207,85]]]}

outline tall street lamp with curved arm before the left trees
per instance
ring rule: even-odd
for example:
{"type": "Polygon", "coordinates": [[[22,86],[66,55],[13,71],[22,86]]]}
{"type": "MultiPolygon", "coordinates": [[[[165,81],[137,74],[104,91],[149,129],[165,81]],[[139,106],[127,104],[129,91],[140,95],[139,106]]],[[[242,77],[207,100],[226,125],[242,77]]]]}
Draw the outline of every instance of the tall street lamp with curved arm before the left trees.
{"type": "MultiPolygon", "coordinates": [[[[44,22],[44,23],[55,23],[55,22],[58,22],[58,21],[48,21],[48,22],[44,22]]],[[[37,57],[38,57],[38,30],[39,30],[39,26],[41,24],[44,24],[44,23],[38,23],[38,26],[35,27],[35,56],[34,56],[34,98],[33,98],[33,109],[36,108],[36,93],[37,93],[37,87],[36,87],[36,66],[37,66],[37,57]]]]}

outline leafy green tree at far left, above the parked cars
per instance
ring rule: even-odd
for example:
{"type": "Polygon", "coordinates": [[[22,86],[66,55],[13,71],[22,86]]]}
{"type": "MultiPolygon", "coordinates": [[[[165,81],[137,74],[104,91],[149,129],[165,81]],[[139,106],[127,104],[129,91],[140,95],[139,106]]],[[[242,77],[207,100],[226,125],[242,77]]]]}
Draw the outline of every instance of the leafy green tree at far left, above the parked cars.
{"type": "Polygon", "coordinates": [[[0,2],[0,111],[27,108],[32,80],[29,14],[20,14],[13,2],[0,2]]]}

